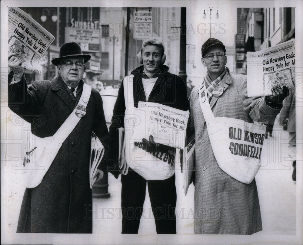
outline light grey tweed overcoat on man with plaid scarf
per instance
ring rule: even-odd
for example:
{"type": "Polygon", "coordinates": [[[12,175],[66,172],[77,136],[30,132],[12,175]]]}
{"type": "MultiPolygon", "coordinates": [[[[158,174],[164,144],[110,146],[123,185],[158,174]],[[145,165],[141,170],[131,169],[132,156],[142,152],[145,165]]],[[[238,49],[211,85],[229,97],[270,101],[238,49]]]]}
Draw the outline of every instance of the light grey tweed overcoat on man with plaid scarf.
{"type": "MultiPolygon", "coordinates": [[[[247,97],[247,77],[226,73],[219,86],[223,94],[212,97],[215,117],[229,117],[253,123],[273,120],[280,109],[266,105],[264,97],[247,97]]],[[[196,86],[190,96],[187,142],[195,138],[196,173],[194,198],[195,234],[252,234],[262,230],[261,212],[255,179],[244,184],[219,167],[196,86]]]]}

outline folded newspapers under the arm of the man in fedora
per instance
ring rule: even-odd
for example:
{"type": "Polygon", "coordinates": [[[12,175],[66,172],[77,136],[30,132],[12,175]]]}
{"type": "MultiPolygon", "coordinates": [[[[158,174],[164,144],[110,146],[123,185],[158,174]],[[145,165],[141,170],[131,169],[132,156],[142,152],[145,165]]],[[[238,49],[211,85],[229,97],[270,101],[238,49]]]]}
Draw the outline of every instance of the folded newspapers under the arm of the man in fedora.
{"type": "Polygon", "coordinates": [[[103,155],[104,146],[102,145],[98,137],[95,135],[95,133],[92,132],[91,161],[89,166],[89,185],[91,189],[96,180],[103,178],[103,175],[100,173],[96,175],[98,166],[102,160],[103,155]]]}

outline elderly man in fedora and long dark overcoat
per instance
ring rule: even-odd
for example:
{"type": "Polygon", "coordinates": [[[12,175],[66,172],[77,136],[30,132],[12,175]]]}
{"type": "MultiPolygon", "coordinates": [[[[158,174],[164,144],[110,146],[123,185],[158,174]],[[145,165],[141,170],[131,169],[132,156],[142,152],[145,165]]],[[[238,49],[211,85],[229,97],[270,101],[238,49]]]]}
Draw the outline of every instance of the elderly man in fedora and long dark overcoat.
{"type": "MultiPolygon", "coordinates": [[[[28,88],[21,61],[14,55],[8,55],[11,70],[8,105],[32,124],[36,136],[53,136],[78,104],[83,90],[84,64],[91,56],[83,55],[75,42],[63,44],[59,57],[52,60],[59,76],[52,81],[35,81],[28,88]],[[43,117],[44,123],[35,126],[33,119],[37,114],[43,117]]],[[[108,129],[102,99],[95,89],[92,89],[85,116],[62,143],[41,184],[26,188],[18,233],[92,233],[89,183],[92,131],[105,147],[104,162],[108,154],[108,129]]],[[[104,166],[100,164],[100,168],[104,166]]]]}

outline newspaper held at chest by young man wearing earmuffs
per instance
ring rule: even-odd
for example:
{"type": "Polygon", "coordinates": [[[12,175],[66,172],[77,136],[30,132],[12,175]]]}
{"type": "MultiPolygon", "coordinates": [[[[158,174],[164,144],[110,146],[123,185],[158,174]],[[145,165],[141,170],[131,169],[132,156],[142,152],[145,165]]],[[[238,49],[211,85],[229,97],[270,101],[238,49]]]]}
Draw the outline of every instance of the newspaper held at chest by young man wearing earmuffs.
{"type": "Polygon", "coordinates": [[[134,111],[132,141],[154,137],[156,143],[183,149],[189,111],[182,111],[158,103],[139,101],[134,111]]]}

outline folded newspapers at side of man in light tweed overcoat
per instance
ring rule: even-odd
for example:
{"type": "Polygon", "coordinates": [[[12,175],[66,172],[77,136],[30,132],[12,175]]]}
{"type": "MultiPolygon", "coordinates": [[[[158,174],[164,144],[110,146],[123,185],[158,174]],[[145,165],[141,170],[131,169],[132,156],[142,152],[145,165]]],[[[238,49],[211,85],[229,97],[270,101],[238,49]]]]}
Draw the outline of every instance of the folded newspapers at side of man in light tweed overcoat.
{"type": "Polygon", "coordinates": [[[195,140],[190,142],[183,150],[182,169],[183,189],[184,194],[186,195],[188,186],[190,185],[191,176],[195,171],[195,140]]]}

